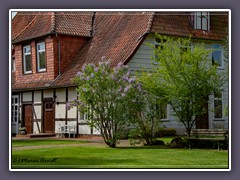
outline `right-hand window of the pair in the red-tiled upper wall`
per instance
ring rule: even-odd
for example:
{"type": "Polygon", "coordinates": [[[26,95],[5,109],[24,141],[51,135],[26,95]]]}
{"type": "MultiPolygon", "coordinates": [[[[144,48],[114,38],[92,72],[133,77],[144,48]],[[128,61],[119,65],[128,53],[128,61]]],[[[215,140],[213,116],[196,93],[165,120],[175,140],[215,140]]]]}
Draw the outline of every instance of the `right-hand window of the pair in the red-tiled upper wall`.
{"type": "Polygon", "coordinates": [[[46,56],[44,42],[37,44],[37,70],[38,72],[46,71],[46,56]]]}

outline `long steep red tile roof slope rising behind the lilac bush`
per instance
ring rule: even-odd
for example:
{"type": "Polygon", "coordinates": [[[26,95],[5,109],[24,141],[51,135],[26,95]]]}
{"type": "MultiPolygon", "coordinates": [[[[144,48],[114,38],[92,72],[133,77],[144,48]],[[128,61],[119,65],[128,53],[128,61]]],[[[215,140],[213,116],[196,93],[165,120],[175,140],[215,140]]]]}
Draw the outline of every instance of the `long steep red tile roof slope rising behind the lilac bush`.
{"type": "Polygon", "coordinates": [[[97,12],[94,36],[86,43],[73,64],[55,81],[53,86],[72,85],[71,79],[85,63],[96,63],[105,56],[111,65],[126,62],[149,31],[152,13],[97,12]]]}

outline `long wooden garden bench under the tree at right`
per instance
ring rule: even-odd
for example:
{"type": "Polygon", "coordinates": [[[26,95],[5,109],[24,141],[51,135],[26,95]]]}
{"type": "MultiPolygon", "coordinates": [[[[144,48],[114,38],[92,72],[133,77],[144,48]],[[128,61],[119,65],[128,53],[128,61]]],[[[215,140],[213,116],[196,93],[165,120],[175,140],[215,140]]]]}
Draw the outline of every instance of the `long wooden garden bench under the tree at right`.
{"type": "Polygon", "coordinates": [[[192,147],[192,143],[198,140],[204,141],[216,141],[218,143],[218,150],[220,150],[220,144],[228,142],[228,130],[227,129],[192,129],[190,137],[186,138],[189,143],[189,149],[192,147]]]}

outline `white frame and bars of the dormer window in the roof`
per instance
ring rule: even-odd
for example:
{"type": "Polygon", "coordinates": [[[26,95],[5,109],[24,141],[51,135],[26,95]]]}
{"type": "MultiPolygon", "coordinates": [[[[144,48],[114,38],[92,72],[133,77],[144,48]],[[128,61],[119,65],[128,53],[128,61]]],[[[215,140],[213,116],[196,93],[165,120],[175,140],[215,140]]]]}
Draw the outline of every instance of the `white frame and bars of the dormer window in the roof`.
{"type": "Polygon", "coordinates": [[[210,31],[210,12],[206,12],[206,11],[198,11],[195,12],[195,16],[194,16],[194,29],[198,29],[198,30],[203,30],[203,31],[210,31]],[[206,13],[206,15],[204,15],[206,13]],[[203,17],[205,16],[205,17],[203,17]],[[200,18],[200,22],[198,21],[198,19],[200,18]],[[203,29],[203,19],[206,19],[207,23],[205,24],[205,26],[207,27],[206,29],[203,29]],[[200,28],[198,28],[198,24],[200,24],[200,28]]]}

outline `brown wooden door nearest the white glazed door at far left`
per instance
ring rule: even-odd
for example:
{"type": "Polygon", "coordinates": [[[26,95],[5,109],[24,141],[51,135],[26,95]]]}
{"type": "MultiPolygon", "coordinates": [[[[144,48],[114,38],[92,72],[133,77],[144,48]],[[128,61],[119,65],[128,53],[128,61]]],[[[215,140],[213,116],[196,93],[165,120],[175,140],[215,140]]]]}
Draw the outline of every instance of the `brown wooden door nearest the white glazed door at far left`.
{"type": "Polygon", "coordinates": [[[32,105],[26,104],[23,106],[24,113],[24,127],[26,127],[27,134],[33,133],[33,114],[32,105]]]}

